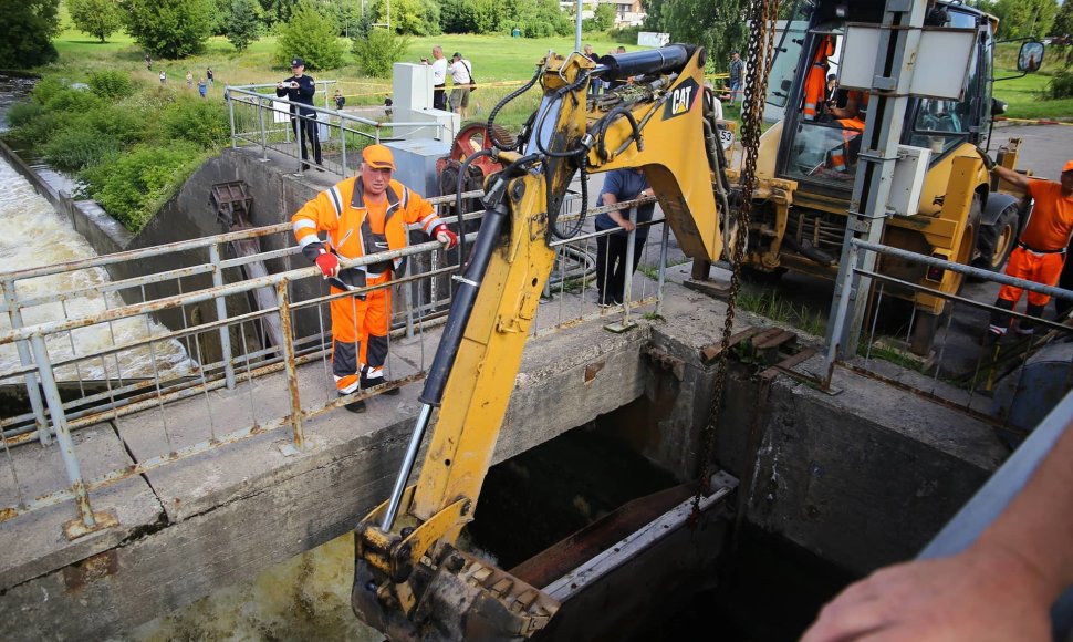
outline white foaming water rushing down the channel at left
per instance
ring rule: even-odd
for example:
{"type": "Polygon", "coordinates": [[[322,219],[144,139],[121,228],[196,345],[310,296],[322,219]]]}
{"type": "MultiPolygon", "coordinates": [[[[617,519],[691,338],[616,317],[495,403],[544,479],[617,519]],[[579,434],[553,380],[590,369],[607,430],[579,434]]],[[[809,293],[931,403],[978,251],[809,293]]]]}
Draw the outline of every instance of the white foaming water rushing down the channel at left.
{"type": "MultiPolygon", "coordinates": [[[[10,165],[0,159],[0,221],[6,234],[0,237],[0,271],[14,271],[38,266],[48,266],[74,259],[95,256],[93,248],[71,225],[52,208],[52,205],[38,195],[30,183],[10,165]]],[[[19,296],[23,299],[62,292],[81,288],[100,288],[108,281],[108,273],[102,268],[93,268],[20,281],[19,296]]],[[[104,294],[100,291],[84,297],[72,298],[64,302],[35,306],[22,311],[24,325],[33,325],[64,318],[79,318],[104,311],[106,308],[123,307],[118,294],[104,294]]],[[[11,329],[7,314],[0,314],[0,332],[11,329]]],[[[111,324],[102,323],[51,335],[46,340],[49,356],[53,363],[70,359],[75,354],[91,354],[112,345],[122,345],[146,336],[167,332],[163,325],[145,318],[124,319],[111,324]],[[74,346],[72,348],[72,341],[74,346]]],[[[183,375],[195,364],[174,340],[154,342],[149,346],[124,350],[105,359],[95,358],[80,361],[77,369],[72,365],[56,369],[59,381],[100,380],[104,377],[146,377],[153,376],[154,361],[157,370],[171,375],[183,375]]],[[[0,379],[19,367],[19,353],[14,344],[0,345],[0,379]]]]}

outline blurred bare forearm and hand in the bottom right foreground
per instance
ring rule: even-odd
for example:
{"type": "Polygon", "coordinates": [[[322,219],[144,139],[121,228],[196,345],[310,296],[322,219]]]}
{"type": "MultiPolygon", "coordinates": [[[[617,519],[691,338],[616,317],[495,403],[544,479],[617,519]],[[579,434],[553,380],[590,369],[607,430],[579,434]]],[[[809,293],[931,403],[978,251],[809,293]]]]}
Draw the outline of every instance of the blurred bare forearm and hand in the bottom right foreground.
{"type": "Polygon", "coordinates": [[[1050,640],[1073,583],[1073,428],[961,553],[881,569],[821,611],[802,642],[1050,640]]]}

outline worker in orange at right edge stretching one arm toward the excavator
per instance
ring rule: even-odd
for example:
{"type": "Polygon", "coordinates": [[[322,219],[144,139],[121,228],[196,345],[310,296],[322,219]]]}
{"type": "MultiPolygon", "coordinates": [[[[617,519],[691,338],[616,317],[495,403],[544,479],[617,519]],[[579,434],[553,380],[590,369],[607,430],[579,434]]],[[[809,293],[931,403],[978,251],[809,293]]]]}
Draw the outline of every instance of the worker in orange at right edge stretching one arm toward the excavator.
{"type": "MultiPolygon", "coordinates": [[[[987,155],[985,158],[990,162],[987,155]]],[[[1059,183],[1029,178],[1001,166],[991,167],[991,172],[1010,185],[1024,189],[1035,200],[1032,216],[1024,224],[1017,247],[1010,252],[1006,273],[1054,286],[1062,273],[1065,248],[1070,244],[1070,235],[1073,234],[1073,161],[1062,167],[1059,183]]],[[[1013,310],[1021,299],[1021,288],[1002,286],[994,306],[1002,310],[1013,310]]],[[[1050,300],[1046,294],[1029,292],[1027,313],[1030,317],[1042,317],[1043,308],[1050,300]]],[[[1002,311],[991,313],[988,342],[998,341],[1006,335],[1010,318],[1010,314],[1002,311]]],[[[1021,321],[1017,329],[1021,334],[1031,334],[1033,325],[1030,321],[1021,321]]]]}

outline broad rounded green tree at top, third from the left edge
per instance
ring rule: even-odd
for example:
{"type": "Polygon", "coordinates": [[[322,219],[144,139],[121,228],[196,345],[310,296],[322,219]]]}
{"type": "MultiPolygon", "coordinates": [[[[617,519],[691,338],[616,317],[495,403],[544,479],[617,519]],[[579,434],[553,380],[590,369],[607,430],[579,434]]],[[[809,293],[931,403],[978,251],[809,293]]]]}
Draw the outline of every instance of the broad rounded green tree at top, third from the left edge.
{"type": "Polygon", "coordinates": [[[213,0],[121,0],[127,32],[158,58],[177,59],[205,48],[213,0]]]}

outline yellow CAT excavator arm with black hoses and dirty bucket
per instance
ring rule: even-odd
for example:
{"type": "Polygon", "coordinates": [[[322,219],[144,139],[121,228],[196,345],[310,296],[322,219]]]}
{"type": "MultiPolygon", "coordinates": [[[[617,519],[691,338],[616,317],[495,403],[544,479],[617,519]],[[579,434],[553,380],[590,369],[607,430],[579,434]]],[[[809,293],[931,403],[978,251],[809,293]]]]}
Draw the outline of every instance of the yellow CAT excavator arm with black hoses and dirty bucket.
{"type": "Polygon", "coordinates": [[[539,587],[455,542],[491,464],[574,175],[642,167],[686,253],[719,258],[726,178],[713,121],[705,116],[704,63],[702,49],[685,45],[598,64],[577,53],[541,62],[534,81],[543,99],[518,147],[497,154],[504,169],[486,184],[485,218],[456,277],[393,495],[356,529],[352,605],[388,638],[520,640],[559,609],[539,587]],[[597,76],[634,81],[588,97],[597,76]],[[407,486],[434,415],[419,477],[407,486]]]}

